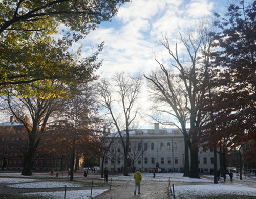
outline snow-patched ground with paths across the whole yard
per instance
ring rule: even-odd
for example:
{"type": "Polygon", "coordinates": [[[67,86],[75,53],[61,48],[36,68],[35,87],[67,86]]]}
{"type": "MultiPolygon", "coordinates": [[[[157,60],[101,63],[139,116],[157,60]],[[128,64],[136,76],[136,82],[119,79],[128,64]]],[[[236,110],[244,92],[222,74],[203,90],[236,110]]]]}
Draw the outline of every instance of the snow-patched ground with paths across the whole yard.
{"type": "MultiPolygon", "coordinates": [[[[159,198],[168,199],[168,187],[174,184],[176,198],[184,194],[189,187],[189,190],[194,190],[190,194],[197,193],[198,195],[205,194],[208,190],[214,189],[224,192],[229,190],[231,193],[238,192],[237,194],[252,195],[256,198],[256,178],[247,178],[243,181],[234,176],[234,181],[230,182],[227,178],[226,182],[218,185],[212,184],[212,176],[201,176],[201,179],[191,179],[182,177],[181,173],[165,173],[157,174],[153,178],[152,173],[142,173],[141,194],[134,195],[133,174],[124,177],[122,174],[110,174],[108,183],[104,183],[104,178],[101,178],[99,173],[89,173],[87,177],[82,176],[82,172],[75,173],[74,180],[79,182],[88,182],[94,184],[93,198],[97,199],[127,199],[127,198],[159,198]],[[193,185],[193,186],[191,186],[193,185]],[[103,193],[102,193],[103,192],[103,193]]],[[[70,195],[68,198],[90,198],[91,186],[77,186],[77,184],[69,183],[66,173],[59,173],[59,177],[50,176],[50,173],[33,173],[31,177],[24,177],[20,173],[0,172],[0,194],[19,194],[19,193],[32,193],[32,192],[49,192],[51,196],[57,197],[57,193],[63,195],[64,184],[67,184],[67,193],[70,195]],[[33,181],[33,182],[31,182],[33,181]],[[74,186],[73,186],[74,185],[74,186]],[[73,191],[73,192],[72,192],[73,191]],[[81,197],[79,196],[81,192],[81,197]],[[72,194],[73,195],[72,195],[72,194]]],[[[218,192],[218,191],[217,191],[218,192]]],[[[227,192],[228,193],[228,192],[227,192]]],[[[0,195],[1,196],[1,195],[0,195]]],[[[190,197],[190,196],[188,196],[190,197]]],[[[188,198],[187,197],[187,198],[188,198]]],[[[36,197],[35,197],[36,198],[36,197]]]]}

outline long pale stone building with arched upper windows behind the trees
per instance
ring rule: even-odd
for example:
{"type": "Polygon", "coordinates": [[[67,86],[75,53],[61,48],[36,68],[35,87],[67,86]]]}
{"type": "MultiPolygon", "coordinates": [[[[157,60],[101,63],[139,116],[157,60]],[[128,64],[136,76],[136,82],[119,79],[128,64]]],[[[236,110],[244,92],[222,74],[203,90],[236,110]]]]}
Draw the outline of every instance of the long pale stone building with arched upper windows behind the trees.
{"type": "MultiPolygon", "coordinates": [[[[142,172],[151,172],[159,167],[159,170],[183,172],[184,169],[184,138],[179,129],[159,129],[155,124],[154,129],[135,129],[129,132],[129,171],[132,166],[142,172]]],[[[126,133],[123,135],[126,138],[126,133]]],[[[214,152],[212,150],[199,150],[200,172],[210,172],[214,169],[214,152]]],[[[100,160],[100,165],[101,165],[100,160]]],[[[110,147],[107,158],[104,159],[104,167],[112,172],[122,169],[124,165],[123,147],[120,137],[116,137],[110,147]]],[[[219,165],[219,158],[217,158],[219,165]]]]}

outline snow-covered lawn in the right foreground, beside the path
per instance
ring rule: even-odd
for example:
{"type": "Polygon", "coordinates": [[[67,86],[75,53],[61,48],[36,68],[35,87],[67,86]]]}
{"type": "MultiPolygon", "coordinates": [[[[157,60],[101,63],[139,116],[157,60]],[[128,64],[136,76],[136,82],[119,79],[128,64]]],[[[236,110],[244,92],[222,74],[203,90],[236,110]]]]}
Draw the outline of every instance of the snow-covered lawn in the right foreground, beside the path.
{"type": "Polygon", "coordinates": [[[256,188],[238,186],[238,185],[187,185],[174,187],[175,198],[196,198],[200,196],[213,195],[247,195],[256,196],[256,188]]]}

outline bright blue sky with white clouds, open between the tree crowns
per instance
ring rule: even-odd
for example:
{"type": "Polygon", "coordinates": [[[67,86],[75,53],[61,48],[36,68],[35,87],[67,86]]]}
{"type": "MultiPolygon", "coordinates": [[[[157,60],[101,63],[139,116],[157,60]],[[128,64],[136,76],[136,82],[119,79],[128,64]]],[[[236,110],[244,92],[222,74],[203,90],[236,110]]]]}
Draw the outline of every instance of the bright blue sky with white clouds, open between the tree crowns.
{"type": "MultiPolygon", "coordinates": [[[[159,68],[155,58],[160,62],[169,61],[168,52],[160,45],[163,36],[175,44],[180,38],[178,32],[185,34],[198,21],[214,19],[214,12],[224,15],[227,5],[228,0],[132,0],[121,5],[111,22],[101,23],[73,47],[82,45],[81,55],[86,57],[91,55],[92,47],[104,41],[99,55],[102,66],[96,72],[101,78],[110,79],[122,71],[149,74],[159,68]]],[[[152,103],[148,101],[146,84],[140,103],[142,114],[149,113],[152,103]]],[[[151,118],[142,118],[140,128],[153,127],[151,118]]]]}

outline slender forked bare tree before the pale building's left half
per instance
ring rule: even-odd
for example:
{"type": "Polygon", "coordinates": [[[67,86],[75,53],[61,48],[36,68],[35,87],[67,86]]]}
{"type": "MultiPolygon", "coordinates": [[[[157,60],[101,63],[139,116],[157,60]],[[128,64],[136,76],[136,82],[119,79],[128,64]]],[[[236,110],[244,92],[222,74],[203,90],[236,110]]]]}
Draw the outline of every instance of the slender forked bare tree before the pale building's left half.
{"type": "Polygon", "coordinates": [[[140,75],[128,77],[124,73],[116,73],[112,83],[101,80],[97,85],[99,103],[107,110],[106,116],[112,119],[122,142],[124,176],[128,175],[129,130],[139,111],[136,100],[139,97],[141,86],[142,77],[140,75]],[[116,110],[118,108],[119,111],[116,110]]]}

